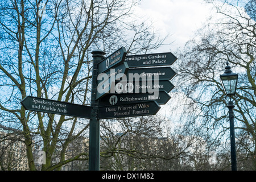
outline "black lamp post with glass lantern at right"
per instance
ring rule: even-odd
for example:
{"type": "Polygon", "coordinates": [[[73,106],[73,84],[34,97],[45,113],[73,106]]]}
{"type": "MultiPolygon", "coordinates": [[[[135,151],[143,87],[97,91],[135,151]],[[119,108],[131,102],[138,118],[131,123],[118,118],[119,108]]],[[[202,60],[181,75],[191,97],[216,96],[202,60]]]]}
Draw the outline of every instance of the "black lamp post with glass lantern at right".
{"type": "Polygon", "coordinates": [[[227,61],[226,68],[223,75],[220,75],[221,84],[225,90],[226,96],[230,97],[229,109],[229,122],[230,122],[230,146],[231,146],[231,168],[232,171],[237,171],[237,156],[236,156],[236,142],[234,135],[234,104],[232,96],[236,95],[238,74],[231,71],[231,67],[227,61]]]}

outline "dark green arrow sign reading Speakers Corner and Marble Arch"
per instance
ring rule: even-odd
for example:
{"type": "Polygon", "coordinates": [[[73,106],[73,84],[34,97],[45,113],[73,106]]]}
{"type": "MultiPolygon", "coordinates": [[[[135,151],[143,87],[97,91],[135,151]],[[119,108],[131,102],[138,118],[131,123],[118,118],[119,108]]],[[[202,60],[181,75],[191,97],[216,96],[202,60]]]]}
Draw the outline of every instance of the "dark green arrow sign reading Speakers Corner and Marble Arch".
{"type": "Polygon", "coordinates": [[[27,96],[20,101],[26,110],[39,111],[72,117],[91,118],[92,107],[27,96]]]}

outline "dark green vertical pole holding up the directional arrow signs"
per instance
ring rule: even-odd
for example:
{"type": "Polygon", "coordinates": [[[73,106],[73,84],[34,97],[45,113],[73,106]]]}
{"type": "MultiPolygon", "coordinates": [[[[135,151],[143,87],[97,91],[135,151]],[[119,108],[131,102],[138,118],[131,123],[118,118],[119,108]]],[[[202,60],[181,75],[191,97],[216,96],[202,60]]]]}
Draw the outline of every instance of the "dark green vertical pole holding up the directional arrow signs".
{"type": "Polygon", "coordinates": [[[92,52],[93,75],[92,75],[92,118],[89,128],[89,171],[100,170],[100,119],[97,119],[98,101],[96,101],[98,63],[104,58],[105,52],[96,50],[92,52]]]}

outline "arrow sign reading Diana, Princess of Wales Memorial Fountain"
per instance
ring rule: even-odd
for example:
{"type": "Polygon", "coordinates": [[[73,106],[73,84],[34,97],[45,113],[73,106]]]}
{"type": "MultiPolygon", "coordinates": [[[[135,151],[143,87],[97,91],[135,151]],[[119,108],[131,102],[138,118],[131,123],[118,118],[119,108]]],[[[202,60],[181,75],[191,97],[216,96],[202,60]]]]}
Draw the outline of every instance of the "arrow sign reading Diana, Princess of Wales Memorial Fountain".
{"type": "Polygon", "coordinates": [[[160,109],[156,101],[99,107],[98,119],[138,117],[141,115],[155,115],[160,109]]]}

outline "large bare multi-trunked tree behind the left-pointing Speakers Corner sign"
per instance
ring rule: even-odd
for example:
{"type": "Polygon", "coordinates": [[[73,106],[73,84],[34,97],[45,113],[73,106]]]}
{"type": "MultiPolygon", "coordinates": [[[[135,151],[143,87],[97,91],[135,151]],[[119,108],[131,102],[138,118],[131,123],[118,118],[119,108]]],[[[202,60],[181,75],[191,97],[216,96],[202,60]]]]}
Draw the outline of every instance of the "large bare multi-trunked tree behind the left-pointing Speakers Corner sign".
{"type": "Polygon", "coordinates": [[[36,170],[37,161],[32,143],[46,152],[42,170],[86,160],[88,152],[79,152],[72,158],[65,154],[71,141],[88,133],[89,122],[26,111],[20,100],[36,96],[89,105],[93,49],[110,53],[125,46],[129,52],[137,53],[159,47],[163,40],[150,34],[147,24],[134,23],[132,9],[137,3],[1,1],[0,122],[22,130],[30,170],[36,170]]]}

